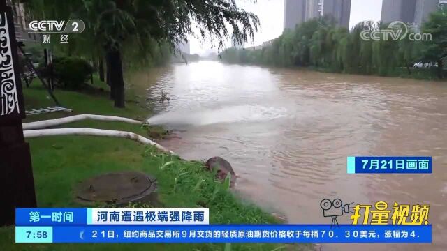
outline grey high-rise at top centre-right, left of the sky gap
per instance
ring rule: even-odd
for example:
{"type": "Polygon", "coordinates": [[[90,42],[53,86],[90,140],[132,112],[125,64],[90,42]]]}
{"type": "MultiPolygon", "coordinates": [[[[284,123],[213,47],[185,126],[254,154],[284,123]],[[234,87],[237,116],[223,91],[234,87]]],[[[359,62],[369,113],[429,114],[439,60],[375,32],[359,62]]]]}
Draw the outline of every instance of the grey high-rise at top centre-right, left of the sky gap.
{"type": "Polygon", "coordinates": [[[331,15],[340,26],[349,27],[351,0],[285,0],[284,29],[314,17],[331,15]]]}

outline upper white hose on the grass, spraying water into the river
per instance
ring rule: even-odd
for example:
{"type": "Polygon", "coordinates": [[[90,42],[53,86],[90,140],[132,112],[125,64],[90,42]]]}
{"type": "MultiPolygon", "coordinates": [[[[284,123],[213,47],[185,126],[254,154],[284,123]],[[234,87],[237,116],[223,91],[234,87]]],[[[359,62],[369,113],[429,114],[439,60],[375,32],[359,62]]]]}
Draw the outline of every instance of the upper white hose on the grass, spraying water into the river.
{"type": "Polygon", "coordinates": [[[75,121],[80,121],[84,119],[94,119],[98,121],[119,121],[133,124],[142,124],[141,121],[137,121],[134,119],[127,119],[119,116],[104,116],[104,115],[94,115],[94,114],[80,114],[75,116],[68,116],[61,119],[48,119],[45,121],[36,121],[30,123],[23,123],[23,130],[34,130],[40,128],[49,128],[52,126],[59,126],[64,123],[71,123],[75,121]]]}

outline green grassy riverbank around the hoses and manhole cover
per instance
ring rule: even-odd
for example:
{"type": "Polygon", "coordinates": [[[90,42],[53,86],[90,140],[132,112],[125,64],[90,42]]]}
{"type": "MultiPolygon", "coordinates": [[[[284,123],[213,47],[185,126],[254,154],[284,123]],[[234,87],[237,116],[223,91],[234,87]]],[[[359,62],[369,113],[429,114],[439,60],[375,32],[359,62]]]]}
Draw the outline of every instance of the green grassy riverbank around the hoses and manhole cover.
{"type": "MultiPolygon", "coordinates": [[[[144,119],[149,111],[136,103],[126,109],[112,108],[107,93],[76,93],[56,91],[56,96],[74,114],[109,114],[144,119]]],[[[53,106],[47,93],[34,83],[24,89],[27,109],[53,106]]],[[[27,121],[66,116],[63,112],[28,116],[27,121]]],[[[26,121],[25,121],[26,122],[26,121]]],[[[65,127],[128,130],[147,136],[147,129],[117,122],[79,121],[65,127]]],[[[159,130],[152,128],[151,130],[159,130]]],[[[272,223],[268,213],[243,203],[226,190],[221,183],[205,172],[200,162],[186,162],[176,156],[161,154],[127,139],[89,136],[41,137],[27,140],[31,146],[36,196],[40,207],[80,206],[73,201],[73,188],[86,178],[119,170],[138,170],[156,176],[159,200],[166,207],[210,208],[212,223],[272,223]],[[163,163],[175,164],[163,169],[163,163]]],[[[0,228],[0,250],[223,250],[223,244],[163,245],[163,244],[88,244],[47,245],[15,244],[14,228],[0,228]]],[[[240,244],[232,250],[302,250],[309,245],[240,244]]]]}

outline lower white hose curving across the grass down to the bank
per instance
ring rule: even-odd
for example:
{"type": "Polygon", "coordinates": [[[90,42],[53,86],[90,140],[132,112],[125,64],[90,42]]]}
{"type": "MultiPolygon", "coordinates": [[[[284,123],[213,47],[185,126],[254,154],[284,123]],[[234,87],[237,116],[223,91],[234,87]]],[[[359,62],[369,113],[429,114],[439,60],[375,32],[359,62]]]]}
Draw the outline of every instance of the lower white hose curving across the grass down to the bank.
{"type": "Polygon", "coordinates": [[[24,137],[43,137],[43,136],[57,136],[57,135],[91,135],[91,136],[105,136],[105,137],[122,137],[125,139],[132,139],[141,144],[149,144],[155,146],[157,149],[175,154],[173,151],[166,149],[165,147],[153,142],[150,139],[142,137],[133,132],[117,131],[117,130],[102,130],[102,129],[91,129],[91,128],[61,128],[61,129],[40,129],[40,130],[24,130],[24,137]]]}

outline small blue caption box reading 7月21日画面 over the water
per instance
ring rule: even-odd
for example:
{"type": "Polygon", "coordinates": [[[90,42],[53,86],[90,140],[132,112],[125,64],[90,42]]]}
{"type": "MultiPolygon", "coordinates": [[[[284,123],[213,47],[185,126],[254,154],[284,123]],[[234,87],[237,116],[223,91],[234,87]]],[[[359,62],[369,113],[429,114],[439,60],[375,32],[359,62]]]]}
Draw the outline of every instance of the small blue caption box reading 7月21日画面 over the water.
{"type": "Polygon", "coordinates": [[[432,157],[348,157],[348,174],[431,174],[432,157]]]}

